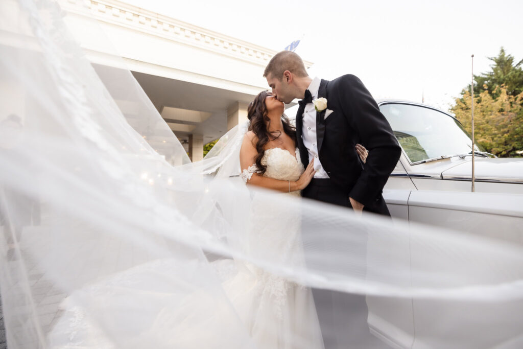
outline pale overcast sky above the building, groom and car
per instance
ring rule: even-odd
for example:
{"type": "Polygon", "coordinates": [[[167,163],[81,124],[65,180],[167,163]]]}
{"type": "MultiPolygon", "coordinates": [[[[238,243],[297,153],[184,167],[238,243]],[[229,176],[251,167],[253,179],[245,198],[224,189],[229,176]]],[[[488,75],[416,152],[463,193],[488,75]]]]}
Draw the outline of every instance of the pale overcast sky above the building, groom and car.
{"type": "MultiPolygon", "coordinates": [[[[273,50],[295,51],[311,76],[361,78],[374,98],[447,109],[500,47],[523,59],[523,1],[123,0],[273,50]]],[[[260,71],[260,74],[263,73],[260,71]]]]}

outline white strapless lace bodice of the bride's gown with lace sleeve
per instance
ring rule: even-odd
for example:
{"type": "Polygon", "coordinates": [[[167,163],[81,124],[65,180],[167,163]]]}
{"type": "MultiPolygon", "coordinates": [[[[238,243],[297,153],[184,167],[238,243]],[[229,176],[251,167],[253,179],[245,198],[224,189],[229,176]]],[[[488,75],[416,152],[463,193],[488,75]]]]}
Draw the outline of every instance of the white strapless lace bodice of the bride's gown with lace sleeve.
{"type": "MultiPolygon", "coordinates": [[[[282,181],[298,181],[305,168],[301,163],[300,151],[295,149],[295,153],[291,154],[286,149],[271,148],[265,151],[261,163],[267,166],[264,173],[265,177],[280,179],[282,181]]],[[[247,182],[253,176],[253,173],[258,172],[258,167],[253,164],[246,170],[243,170],[241,176],[244,182],[247,182]]],[[[298,193],[298,192],[297,192],[298,193]]]]}

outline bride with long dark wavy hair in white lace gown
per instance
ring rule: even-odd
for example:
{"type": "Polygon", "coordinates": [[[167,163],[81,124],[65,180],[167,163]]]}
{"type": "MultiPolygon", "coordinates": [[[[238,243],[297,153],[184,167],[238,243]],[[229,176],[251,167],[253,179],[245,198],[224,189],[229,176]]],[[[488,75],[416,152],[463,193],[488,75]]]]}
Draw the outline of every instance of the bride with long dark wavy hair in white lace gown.
{"type": "MultiPolygon", "coordinates": [[[[300,196],[314,175],[313,162],[305,169],[295,147],[295,130],[283,115],[283,103],[271,93],[259,93],[248,107],[249,130],[245,133],[240,150],[241,177],[249,185],[300,196]]],[[[276,197],[275,197],[276,199],[276,197]]],[[[300,261],[299,213],[289,208],[285,213],[265,205],[256,205],[253,199],[255,231],[248,250],[254,255],[271,251],[278,255],[277,263],[295,265],[300,261]],[[274,221],[280,227],[277,229],[274,221]],[[287,235],[284,239],[281,227],[287,235]]],[[[248,268],[255,275],[243,284],[226,285],[225,291],[234,294],[251,289],[252,306],[244,320],[255,342],[267,348],[323,348],[316,310],[310,289],[270,275],[252,265],[248,268]],[[254,288],[249,285],[256,285],[254,288]],[[257,296],[256,296],[257,295],[257,296]],[[276,331],[275,331],[276,330],[276,331]],[[292,335],[290,335],[292,334],[292,335]],[[300,344],[300,339],[303,344],[300,344]]],[[[245,295],[244,295],[245,297],[245,295]]]]}

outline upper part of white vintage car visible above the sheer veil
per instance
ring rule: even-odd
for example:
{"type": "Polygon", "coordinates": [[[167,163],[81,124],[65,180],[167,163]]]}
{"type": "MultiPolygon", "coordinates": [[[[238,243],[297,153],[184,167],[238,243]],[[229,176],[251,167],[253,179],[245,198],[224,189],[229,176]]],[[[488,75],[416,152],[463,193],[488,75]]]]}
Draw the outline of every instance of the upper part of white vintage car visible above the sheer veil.
{"type": "Polygon", "coordinates": [[[523,242],[523,158],[495,158],[476,145],[472,193],[472,141],[456,118],[413,102],[378,105],[403,149],[383,190],[393,217],[502,239],[519,232],[523,242]]]}

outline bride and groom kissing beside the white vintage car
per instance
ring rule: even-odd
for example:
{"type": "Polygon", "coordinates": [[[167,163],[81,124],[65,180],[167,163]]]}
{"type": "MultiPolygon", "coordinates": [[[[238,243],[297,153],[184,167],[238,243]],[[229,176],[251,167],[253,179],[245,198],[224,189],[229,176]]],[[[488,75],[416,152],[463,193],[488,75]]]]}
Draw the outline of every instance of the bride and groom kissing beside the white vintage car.
{"type": "MultiPolygon", "coordinates": [[[[243,180],[249,185],[353,209],[357,214],[368,211],[390,216],[381,193],[400,159],[401,148],[389,122],[359,78],[311,78],[302,59],[291,51],[277,53],[265,68],[264,77],[272,92],[259,93],[248,107],[250,125],[240,150],[243,180]],[[294,128],[283,114],[283,104],[295,98],[300,101],[294,128]]],[[[271,218],[275,217],[266,215],[266,220],[271,218]]],[[[272,232],[266,227],[258,233],[270,236],[272,232]]],[[[274,250],[274,246],[270,247],[274,250]]],[[[288,251],[280,252],[285,255],[288,251]]],[[[365,258],[365,251],[356,253],[365,258]]],[[[367,325],[365,296],[320,289],[311,292],[295,284],[286,285],[281,292],[286,295],[289,318],[280,320],[276,328],[281,331],[272,336],[279,339],[272,345],[279,345],[272,347],[292,347],[285,343],[285,332],[292,329],[295,335],[308,339],[311,348],[354,344],[351,337],[367,344],[374,340],[367,325]],[[301,297],[292,297],[300,292],[301,297]],[[316,307],[317,317],[314,302],[321,305],[316,307]],[[344,308],[345,315],[340,311],[344,308]],[[342,317],[336,318],[336,313],[342,313],[342,317]],[[309,317],[305,320],[303,314],[309,317]],[[314,335],[319,328],[318,317],[321,327],[329,329],[337,323],[347,323],[347,316],[350,325],[346,330],[335,335],[322,331],[323,341],[314,335]]],[[[267,333],[259,333],[258,339],[258,343],[266,344],[267,333]]]]}

